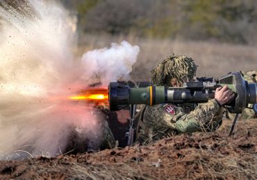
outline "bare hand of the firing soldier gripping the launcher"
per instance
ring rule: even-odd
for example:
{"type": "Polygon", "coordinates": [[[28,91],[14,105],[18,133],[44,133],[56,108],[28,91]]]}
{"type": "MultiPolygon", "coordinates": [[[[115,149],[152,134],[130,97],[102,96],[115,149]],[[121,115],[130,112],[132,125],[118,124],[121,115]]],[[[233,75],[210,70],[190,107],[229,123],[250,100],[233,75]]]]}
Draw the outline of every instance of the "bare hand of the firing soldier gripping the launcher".
{"type": "Polygon", "coordinates": [[[220,105],[226,104],[234,97],[233,91],[228,88],[228,86],[218,87],[215,91],[215,100],[219,102],[220,105]]]}

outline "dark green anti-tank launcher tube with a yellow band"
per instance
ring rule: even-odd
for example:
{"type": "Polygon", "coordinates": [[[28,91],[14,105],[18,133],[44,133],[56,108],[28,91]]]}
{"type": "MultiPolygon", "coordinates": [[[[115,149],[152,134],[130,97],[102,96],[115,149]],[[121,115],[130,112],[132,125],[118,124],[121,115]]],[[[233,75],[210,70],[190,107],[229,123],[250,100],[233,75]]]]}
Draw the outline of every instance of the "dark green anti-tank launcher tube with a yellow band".
{"type": "MultiPolygon", "coordinates": [[[[257,102],[257,84],[248,83],[241,73],[229,73],[222,76],[219,82],[186,82],[183,87],[130,88],[118,82],[109,84],[110,111],[118,111],[128,105],[158,105],[162,103],[181,104],[185,102],[208,102],[214,98],[215,89],[227,85],[235,93],[235,98],[225,105],[231,113],[242,113],[249,104],[257,102]]],[[[254,105],[257,107],[257,105],[254,105]]]]}

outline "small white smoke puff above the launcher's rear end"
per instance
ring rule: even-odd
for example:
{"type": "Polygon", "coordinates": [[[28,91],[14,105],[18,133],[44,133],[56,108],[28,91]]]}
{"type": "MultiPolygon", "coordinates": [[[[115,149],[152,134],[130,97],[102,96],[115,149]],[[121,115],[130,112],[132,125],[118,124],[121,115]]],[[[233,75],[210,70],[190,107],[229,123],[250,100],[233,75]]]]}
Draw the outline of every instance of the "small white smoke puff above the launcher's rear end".
{"type": "Polygon", "coordinates": [[[119,78],[128,80],[128,74],[132,71],[132,65],[137,60],[139,51],[138,46],[122,42],[120,45],[113,43],[110,48],[85,53],[82,63],[90,69],[85,71],[83,79],[90,80],[92,75],[95,75],[104,85],[119,78]]]}

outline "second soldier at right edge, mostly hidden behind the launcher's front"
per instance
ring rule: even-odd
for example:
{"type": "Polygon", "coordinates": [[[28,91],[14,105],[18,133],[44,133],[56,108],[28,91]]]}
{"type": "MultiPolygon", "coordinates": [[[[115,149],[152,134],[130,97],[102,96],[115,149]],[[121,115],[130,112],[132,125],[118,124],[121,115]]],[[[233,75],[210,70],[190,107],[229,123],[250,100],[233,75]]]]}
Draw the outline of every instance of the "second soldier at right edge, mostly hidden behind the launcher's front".
{"type": "MultiPolygon", "coordinates": [[[[249,83],[256,83],[257,82],[257,73],[256,71],[248,71],[248,72],[243,72],[242,76],[244,77],[244,80],[247,80],[249,83]]],[[[252,105],[248,105],[248,107],[252,107],[252,105]]],[[[233,120],[235,118],[235,114],[230,114],[229,112],[226,113],[226,118],[229,118],[233,120]]],[[[253,109],[246,108],[244,111],[242,111],[242,114],[240,116],[242,119],[251,119],[251,118],[257,118],[255,112],[253,109]]]]}

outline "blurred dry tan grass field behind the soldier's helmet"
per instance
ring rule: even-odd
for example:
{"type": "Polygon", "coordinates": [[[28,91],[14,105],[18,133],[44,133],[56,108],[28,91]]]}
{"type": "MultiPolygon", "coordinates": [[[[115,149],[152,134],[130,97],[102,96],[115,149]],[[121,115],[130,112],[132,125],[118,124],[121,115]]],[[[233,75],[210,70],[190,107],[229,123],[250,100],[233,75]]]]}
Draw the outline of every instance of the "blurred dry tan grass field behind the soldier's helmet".
{"type": "Polygon", "coordinates": [[[140,46],[138,61],[133,66],[133,80],[149,80],[149,71],[168,55],[188,55],[199,65],[197,76],[219,78],[231,71],[257,69],[257,47],[216,42],[182,42],[169,39],[142,39],[128,36],[83,35],[79,38],[78,55],[112,42],[128,41],[140,46]],[[143,72],[143,73],[142,73],[143,72]]]}

